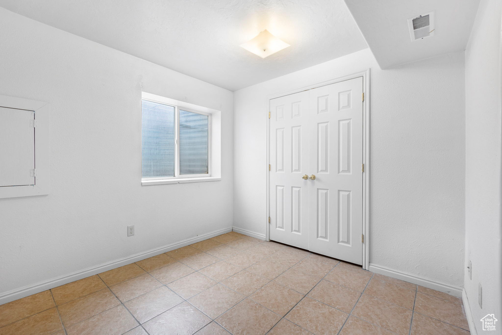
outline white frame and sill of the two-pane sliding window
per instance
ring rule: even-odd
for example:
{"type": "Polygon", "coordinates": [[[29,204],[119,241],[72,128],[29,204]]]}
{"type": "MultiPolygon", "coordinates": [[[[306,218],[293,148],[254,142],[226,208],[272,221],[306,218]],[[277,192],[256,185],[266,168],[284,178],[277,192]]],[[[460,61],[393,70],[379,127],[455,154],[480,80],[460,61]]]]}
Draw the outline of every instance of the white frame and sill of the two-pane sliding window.
{"type": "MultiPolygon", "coordinates": [[[[220,143],[219,137],[216,138],[213,133],[213,126],[216,122],[219,123],[220,120],[220,111],[216,109],[211,109],[203,106],[198,106],[192,103],[178,101],[170,98],[166,98],[160,95],[155,95],[151,93],[142,92],[142,100],[157,102],[165,105],[169,105],[174,107],[175,113],[175,152],[174,152],[174,177],[148,177],[141,178],[141,184],[143,186],[146,185],[159,185],[159,184],[177,184],[177,183],[188,183],[188,182],[204,182],[204,181],[219,181],[221,180],[221,162],[215,162],[217,160],[213,160],[213,153],[215,151],[220,151],[220,146],[217,146],[220,143]],[[207,172],[202,174],[180,174],[180,110],[189,111],[191,113],[206,115],[208,117],[208,139],[207,139],[207,172]],[[218,140],[218,141],[214,141],[218,140]],[[215,143],[216,142],[216,143],[215,143]],[[216,149],[216,150],[215,150],[216,149]]],[[[219,127],[217,127],[219,129],[219,127]]],[[[221,157],[221,153],[219,152],[219,157],[221,157]]],[[[142,155],[143,157],[143,155],[142,155]]]]}

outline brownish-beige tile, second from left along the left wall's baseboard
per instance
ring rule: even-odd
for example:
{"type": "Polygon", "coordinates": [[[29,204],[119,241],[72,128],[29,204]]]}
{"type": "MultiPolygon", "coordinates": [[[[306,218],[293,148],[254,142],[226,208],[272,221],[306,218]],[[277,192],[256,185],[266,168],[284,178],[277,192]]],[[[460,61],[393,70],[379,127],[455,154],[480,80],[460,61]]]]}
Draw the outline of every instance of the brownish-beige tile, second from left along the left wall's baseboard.
{"type": "Polygon", "coordinates": [[[66,285],[58,286],[51,291],[56,305],[61,305],[73,299],[102,290],[103,288],[106,288],[106,285],[103,284],[103,281],[99,279],[98,276],[90,276],[66,285]]]}

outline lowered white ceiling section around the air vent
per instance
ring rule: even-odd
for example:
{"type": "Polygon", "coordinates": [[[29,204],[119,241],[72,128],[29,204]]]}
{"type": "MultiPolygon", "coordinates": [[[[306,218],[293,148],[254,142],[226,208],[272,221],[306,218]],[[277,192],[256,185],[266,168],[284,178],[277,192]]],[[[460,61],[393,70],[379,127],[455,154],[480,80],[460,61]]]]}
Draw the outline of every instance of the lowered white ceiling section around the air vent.
{"type": "Polygon", "coordinates": [[[345,0],[379,65],[465,50],[479,0],[345,0]],[[435,35],[412,42],[408,19],[435,12],[435,35]]]}

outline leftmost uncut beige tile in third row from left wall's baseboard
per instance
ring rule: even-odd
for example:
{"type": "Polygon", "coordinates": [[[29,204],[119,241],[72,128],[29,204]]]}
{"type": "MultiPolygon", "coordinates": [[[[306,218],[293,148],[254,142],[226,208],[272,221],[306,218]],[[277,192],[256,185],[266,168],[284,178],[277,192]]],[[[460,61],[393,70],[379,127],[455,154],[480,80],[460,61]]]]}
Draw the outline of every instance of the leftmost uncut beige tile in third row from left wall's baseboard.
{"type": "Polygon", "coordinates": [[[181,297],[167,287],[162,286],[133,300],[129,300],[124,305],[138,321],[144,323],[181,302],[183,302],[181,297]]]}

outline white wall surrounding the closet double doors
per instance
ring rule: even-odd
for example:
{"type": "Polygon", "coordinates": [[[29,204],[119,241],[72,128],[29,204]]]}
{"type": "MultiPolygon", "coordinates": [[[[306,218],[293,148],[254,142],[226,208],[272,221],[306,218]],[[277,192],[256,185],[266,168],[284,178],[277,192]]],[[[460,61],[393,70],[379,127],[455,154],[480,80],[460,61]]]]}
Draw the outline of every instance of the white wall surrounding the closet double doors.
{"type": "Polygon", "coordinates": [[[236,91],[234,225],[265,234],[267,95],[366,68],[371,68],[369,261],[460,287],[463,52],[380,70],[366,49],[236,91]]]}

